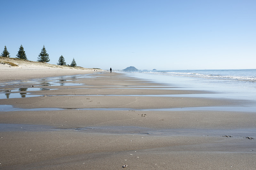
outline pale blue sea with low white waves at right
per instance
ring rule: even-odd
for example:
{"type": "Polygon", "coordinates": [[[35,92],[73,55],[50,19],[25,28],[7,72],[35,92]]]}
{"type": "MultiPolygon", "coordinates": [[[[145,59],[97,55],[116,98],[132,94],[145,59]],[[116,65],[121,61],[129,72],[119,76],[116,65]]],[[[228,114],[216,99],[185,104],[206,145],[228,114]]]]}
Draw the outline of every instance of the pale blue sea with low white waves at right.
{"type": "Polygon", "coordinates": [[[215,94],[209,94],[210,97],[252,100],[256,104],[256,69],[138,70],[125,73],[132,77],[180,87],[176,89],[212,91],[215,94]]]}

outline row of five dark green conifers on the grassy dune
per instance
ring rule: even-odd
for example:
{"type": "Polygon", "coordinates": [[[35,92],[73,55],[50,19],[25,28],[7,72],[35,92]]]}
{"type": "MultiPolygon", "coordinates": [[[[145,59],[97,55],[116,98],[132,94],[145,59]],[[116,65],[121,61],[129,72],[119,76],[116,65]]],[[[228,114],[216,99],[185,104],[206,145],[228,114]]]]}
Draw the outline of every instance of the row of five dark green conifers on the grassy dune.
{"type": "MultiPolygon", "coordinates": [[[[6,46],[4,46],[4,51],[1,53],[1,56],[2,57],[8,57],[8,58],[11,57],[11,55],[8,52],[6,46]]],[[[22,44],[20,45],[18,54],[16,55],[16,58],[21,58],[21,59],[24,59],[24,60],[28,60],[27,55],[24,51],[24,48],[23,48],[22,44]]],[[[47,53],[44,46],[41,50],[41,53],[38,55],[37,61],[38,62],[46,62],[46,63],[50,61],[49,54],[47,53]]],[[[57,63],[57,65],[66,65],[65,59],[62,55],[60,56],[59,63],[57,63]]],[[[70,66],[72,66],[72,67],[76,66],[76,61],[75,61],[74,58],[73,58],[73,61],[70,64],[70,66]]]]}

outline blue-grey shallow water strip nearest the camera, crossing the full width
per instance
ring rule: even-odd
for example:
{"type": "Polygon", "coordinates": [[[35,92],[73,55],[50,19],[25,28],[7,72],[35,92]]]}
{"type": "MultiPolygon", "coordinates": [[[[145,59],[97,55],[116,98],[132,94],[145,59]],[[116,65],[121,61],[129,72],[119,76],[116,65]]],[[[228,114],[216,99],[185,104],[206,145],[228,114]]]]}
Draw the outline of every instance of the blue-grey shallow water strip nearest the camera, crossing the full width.
{"type": "MultiPolygon", "coordinates": [[[[48,125],[31,124],[0,124],[0,132],[36,132],[36,131],[79,131],[81,133],[101,133],[101,134],[131,134],[143,136],[220,136],[239,137],[254,140],[254,129],[150,129],[136,126],[97,126],[78,128],[57,128],[48,125]],[[228,134],[228,135],[227,135],[228,134]],[[232,136],[231,136],[232,135],[232,136]],[[250,137],[247,137],[250,136],[250,137]]],[[[132,140],[131,140],[132,142],[132,140]]]]}

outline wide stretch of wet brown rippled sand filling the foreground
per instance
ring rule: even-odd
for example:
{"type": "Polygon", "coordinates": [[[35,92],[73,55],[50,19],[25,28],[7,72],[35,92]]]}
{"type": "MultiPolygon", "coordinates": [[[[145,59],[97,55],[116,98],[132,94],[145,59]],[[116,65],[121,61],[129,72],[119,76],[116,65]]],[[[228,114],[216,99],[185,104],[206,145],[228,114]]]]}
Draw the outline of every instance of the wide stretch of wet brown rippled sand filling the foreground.
{"type": "Polygon", "coordinates": [[[12,89],[28,89],[25,98],[0,99],[21,108],[0,112],[0,169],[255,169],[256,140],[246,138],[255,138],[255,112],[157,110],[249,101],[179,97],[213,92],[177,90],[115,72],[63,83],[69,85],[41,91],[33,91],[46,87],[40,81],[1,86],[10,96],[20,93],[12,89]],[[62,109],[29,110],[48,107],[62,109]]]}

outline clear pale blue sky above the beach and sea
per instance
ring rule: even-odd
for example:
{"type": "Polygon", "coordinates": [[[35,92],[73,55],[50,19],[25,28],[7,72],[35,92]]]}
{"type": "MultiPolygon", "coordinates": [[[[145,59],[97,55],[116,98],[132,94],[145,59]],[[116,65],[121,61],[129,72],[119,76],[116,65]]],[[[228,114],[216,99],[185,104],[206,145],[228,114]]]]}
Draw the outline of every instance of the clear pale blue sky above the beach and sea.
{"type": "Polygon", "coordinates": [[[256,69],[255,0],[1,1],[0,52],[114,70],[256,69]]]}

